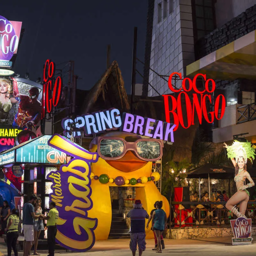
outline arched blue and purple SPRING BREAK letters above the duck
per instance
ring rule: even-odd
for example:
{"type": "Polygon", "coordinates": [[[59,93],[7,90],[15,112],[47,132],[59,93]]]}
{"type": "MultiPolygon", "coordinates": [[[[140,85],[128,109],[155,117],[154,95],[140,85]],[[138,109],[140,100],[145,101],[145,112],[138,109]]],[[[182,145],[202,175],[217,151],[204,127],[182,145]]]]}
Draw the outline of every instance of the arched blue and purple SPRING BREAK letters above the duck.
{"type": "MultiPolygon", "coordinates": [[[[70,128],[74,126],[84,130],[84,134],[96,134],[107,130],[132,132],[154,139],[174,142],[173,131],[175,124],[166,123],[152,118],[123,113],[116,108],[100,111],[84,116],[77,116],[74,120],[65,118],[62,120],[63,134],[71,137],[70,128]]],[[[80,131],[72,132],[73,137],[81,136],[80,131]]]]}

